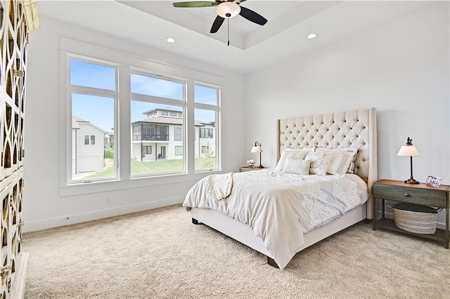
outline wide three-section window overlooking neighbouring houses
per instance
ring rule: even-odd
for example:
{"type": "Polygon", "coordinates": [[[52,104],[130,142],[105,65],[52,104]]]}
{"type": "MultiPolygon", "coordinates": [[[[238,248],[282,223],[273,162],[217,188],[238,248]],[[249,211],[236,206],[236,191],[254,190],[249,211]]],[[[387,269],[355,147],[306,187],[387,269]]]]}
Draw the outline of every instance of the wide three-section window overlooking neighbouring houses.
{"type": "MultiPolygon", "coordinates": [[[[124,53],[116,53],[123,58],[117,62],[114,55],[105,55],[104,59],[110,60],[106,62],[68,51],[68,47],[61,51],[68,62],[66,77],[61,79],[67,82],[64,91],[68,95],[68,105],[61,110],[69,113],[68,130],[61,133],[67,140],[64,149],[61,147],[61,153],[67,153],[61,171],[67,173],[68,184],[218,168],[219,88],[193,81],[209,76],[186,69],[178,72],[148,60],[139,64],[140,58],[124,53]],[[126,61],[136,68],[127,66],[126,61]],[[142,69],[143,65],[155,65],[158,71],[168,69],[177,77],[152,74],[150,69],[142,69]],[[192,78],[183,79],[180,74],[192,78]],[[124,86],[120,97],[119,85],[124,86]],[[123,93],[128,86],[129,93],[123,93]],[[127,123],[127,117],[119,117],[124,113],[130,114],[127,123]],[[116,135],[119,126],[129,127],[120,138],[116,135]],[[118,161],[119,151],[130,151],[131,159],[118,161]],[[119,171],[119,167],[129,172],[119,171]]],[[[220,80],[212,81],[217,84],[220,80]]]]}

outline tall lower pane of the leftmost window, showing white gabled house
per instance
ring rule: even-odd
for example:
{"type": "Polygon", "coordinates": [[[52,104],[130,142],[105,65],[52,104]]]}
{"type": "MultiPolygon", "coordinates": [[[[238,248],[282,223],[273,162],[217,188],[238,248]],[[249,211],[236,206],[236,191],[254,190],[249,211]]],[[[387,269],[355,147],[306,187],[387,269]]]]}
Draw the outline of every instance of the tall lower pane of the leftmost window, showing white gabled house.
{"type": "Polygon", "coordinates": [[[72,93],[72,180],[115,177],[113,132],[114,98],[72,93]]]}

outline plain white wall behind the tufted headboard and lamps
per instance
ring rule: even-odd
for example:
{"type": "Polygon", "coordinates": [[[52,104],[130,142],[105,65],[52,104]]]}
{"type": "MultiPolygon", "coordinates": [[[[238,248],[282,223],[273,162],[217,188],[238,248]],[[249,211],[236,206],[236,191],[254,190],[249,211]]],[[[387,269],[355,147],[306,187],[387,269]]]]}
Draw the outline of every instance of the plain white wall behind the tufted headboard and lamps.
{"type": "Polygon", "coordinates": [[[263,165],[276,165],[276,119],[376,107],[378,178],[409,178],[409,158],[397,157],[409,136],[414,178],[448,185],[449,80],[446,1],[248,74],[245,157],[258,140],[263,165]]]}

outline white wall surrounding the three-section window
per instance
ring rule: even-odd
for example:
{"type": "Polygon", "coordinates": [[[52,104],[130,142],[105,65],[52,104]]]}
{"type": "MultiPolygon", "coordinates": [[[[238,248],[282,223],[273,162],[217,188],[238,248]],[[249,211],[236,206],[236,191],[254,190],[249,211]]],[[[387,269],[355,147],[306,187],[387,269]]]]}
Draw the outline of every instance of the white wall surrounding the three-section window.
{"type": "MultiPolygon", "coordinates": [[[[141,178],[109,182],[106,187],[82,186],[83,194],[64,196],[60,185],[60,41],[61,36],[87,44],[130,53],[141,58],[222,77],[221,135],[224,172],[236,171],[245,161],[243,120],[243,75],[221,67],[158,51],[115,36],[68,23],[40,18],[41,26],[30,32],[27,63],[25,117],[25,231],[68,225],[74,222],[141,211],[181,203],[188,189],[210,173],[172,178],[141,178]],[[94,192],[96,191],[96,192],[94,192]],[[106,197],[113,199],[106,204],[106,197]]],[[[87,22],[86,22],[87,24],[87,22]]],[[[91,183],[94,184],[94,183],[91,183]]]]}

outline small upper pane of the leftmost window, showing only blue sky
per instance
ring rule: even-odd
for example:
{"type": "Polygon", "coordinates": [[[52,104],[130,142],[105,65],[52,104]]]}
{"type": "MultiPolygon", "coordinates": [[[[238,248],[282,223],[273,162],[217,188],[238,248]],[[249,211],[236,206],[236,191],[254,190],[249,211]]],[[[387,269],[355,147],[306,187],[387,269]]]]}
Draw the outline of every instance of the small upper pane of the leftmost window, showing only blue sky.
{"type": "Polygon", "coordinates": [[[70,60],[70,84],[115,91],[115,68],[70,60]]]}

